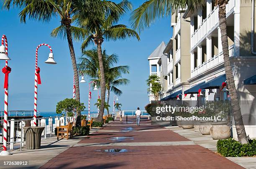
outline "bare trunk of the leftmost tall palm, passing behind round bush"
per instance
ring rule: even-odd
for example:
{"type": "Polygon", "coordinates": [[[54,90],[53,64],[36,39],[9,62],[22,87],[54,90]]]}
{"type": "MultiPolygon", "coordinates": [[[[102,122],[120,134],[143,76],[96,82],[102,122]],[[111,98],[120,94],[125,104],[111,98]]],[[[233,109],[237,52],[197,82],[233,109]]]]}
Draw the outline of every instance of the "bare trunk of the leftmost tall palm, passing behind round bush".
{"type": "MultiPolygon", "coordinates": [[[[72,61],[72,67],[74,71],[74,78],[75,78],[75,86],[76,86],[76,100],[80,102],[80,92],[79,92],[79,77],[78,77],[78,72],[77,72],[77,61],[76,61],[76,56],[74,53],[74,46],[73,46],[73,41],[72,41],[72,34],[70,30],[70,25],[66,26],[66,31],[67,31],[67,40],[69,44],[69,52],[70,52],[70,57],[72,61]]],[[[77,120],[76,120],[76,125],[80,125],[80,117],[81,117],[81,112],[76,112],[77,120]]]]}

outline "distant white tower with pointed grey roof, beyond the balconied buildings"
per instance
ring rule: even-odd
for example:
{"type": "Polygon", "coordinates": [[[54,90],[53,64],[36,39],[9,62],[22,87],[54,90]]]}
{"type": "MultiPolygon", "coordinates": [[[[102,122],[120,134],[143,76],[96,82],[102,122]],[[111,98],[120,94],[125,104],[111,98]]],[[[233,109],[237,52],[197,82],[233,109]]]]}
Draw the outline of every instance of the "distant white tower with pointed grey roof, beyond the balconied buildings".
{"type": "MultiPolygon", "coordinates": [[[[162,64],[162,62],[165,63],[165,60],[166,60],[166,59],[161,60],[161,57],[166,57],[163,54],[165,47],[166,47],[166,44],[164,42],[161,42],[161,44],[158,47],[156,47],[154,52],[152,52],[151,55],[149,55],[149,57],[148,57],[149,75],[159,76],[161,79],[162,86],[165,86],[165,83],[166,83],[163,78],[164,72],[163,71],[161,72],[161,70],[162,70],[161,64],[162,64]]],[[[167,69],[167,65],[164,64],[164,67],[167,69]]],[[[167,72],[167,70],[166,70],[166,72],[167,72]]],[[[149,97],[149,102],[155,100],[154,94],[152,94],[152,93],[148,93],[148,97],[149,97]]]]}

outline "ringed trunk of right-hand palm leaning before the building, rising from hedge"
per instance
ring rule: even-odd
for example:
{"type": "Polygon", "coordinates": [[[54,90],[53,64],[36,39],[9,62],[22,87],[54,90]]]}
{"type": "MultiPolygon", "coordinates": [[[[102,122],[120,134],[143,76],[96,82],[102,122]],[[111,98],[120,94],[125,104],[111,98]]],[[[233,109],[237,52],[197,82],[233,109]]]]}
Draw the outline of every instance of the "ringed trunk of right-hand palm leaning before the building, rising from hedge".
{"type": "Polygon", "coordinates": [[[230,94],[230,101],[233,110],[233,117],[236,125],[236,133],[238,140],[241,144],[248,143],[246,131],[243,125],[243,118],[241,114],[240,105],[238,102],[236,86],[234,82],[233,72],[230,65],[230,58],[228,53],[228,35],[227,35],[227,22],[226,22],[226,11],[225,11],[225,0],[219,0],[217,2],[219,5],[219,22],[220,22],[220,33],[221,33],[221,42],[223,48],[223,57],[224,57],[224,67],[228,82],[228,90],[230,94]]]}

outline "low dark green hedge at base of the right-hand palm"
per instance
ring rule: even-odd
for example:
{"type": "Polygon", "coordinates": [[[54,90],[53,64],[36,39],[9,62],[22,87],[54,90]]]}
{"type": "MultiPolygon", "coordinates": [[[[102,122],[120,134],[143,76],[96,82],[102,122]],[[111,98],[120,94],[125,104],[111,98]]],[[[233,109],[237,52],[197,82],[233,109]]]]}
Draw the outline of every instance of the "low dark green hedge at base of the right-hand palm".
{"type": "Polygon", "coordinates": [[[256,139],[249,139],[249,143],[243,145],[232,138],[218,140],[217,150],[224,157],[254,156],[256,155],[256,139]]]}

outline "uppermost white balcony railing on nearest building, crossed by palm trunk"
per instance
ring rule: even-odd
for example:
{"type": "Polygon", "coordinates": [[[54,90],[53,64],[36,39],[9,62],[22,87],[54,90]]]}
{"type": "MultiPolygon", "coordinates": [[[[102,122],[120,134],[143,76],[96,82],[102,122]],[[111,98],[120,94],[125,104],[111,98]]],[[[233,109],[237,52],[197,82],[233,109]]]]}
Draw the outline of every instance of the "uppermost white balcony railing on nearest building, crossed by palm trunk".
{"type": "MultiPolygon", "coordinates": [[[[226,14],[235,7],[235,0],[229,0],[226,5],[226,14]]],[[[219,7],[214,7],[214,10],[202,21],[198,29],[191,35],[191,49],[200,42],[205,35],[210,32],[216,25],[219,24],[218,17],[219,7]]]]}

